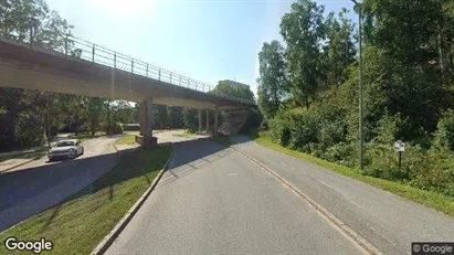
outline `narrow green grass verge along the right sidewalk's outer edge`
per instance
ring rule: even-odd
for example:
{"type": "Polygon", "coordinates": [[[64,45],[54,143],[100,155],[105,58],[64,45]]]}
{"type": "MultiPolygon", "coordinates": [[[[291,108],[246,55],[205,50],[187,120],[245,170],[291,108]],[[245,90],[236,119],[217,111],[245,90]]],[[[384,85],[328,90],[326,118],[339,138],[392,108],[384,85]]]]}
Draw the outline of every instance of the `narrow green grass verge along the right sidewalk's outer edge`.
{"type": "Polygon", "coordinates": [[[429,208],[439,210],[447,215],[454,216],[454,198],[446,196],[437,192],[424,191],[405,183],[399,183],[393,181],[388,181],[379,178],[373,178],[369,176],[362,176],[358,169],[347,168],[337,163],[332,163],[310,155],[306,155],[299,151],[291,150],[282,147],[273,141],[261,136],[257,132],[251,132],[250,138],[255,140],[257,144],[268,147],[273,150],[279,151],[282,153],[304,159],[308,162],[315,163],[321,168],[335,171],[342,176],[349,177],[351,179],[371,184],[373,187],[380,188],[382,190],[389,191],[402,198],[409,199],[411,201],[424,204],[429,208]]]}

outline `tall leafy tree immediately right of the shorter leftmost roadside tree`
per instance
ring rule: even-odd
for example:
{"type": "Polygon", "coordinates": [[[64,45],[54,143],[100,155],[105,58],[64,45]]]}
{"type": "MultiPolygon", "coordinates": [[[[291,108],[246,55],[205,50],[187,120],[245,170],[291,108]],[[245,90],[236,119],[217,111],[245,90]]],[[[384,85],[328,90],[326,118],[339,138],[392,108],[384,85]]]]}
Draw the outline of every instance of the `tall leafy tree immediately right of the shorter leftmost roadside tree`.
{"type": "Polygon", "coordinates": [[[292,3],[281,21],[281,34],[287,44],[289,91],[297,104],[309,108],[321,79],[321,40],[325,8],[310,0],[292,3]]]}

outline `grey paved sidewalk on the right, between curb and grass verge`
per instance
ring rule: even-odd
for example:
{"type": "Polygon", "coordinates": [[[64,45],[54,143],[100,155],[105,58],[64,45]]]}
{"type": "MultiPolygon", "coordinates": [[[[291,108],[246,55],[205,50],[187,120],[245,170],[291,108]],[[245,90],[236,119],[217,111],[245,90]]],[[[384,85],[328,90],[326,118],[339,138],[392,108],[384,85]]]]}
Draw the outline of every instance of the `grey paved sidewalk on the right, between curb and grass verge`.
{"type": "Polygon", "coordinates": [[[454,241],[454,217],[315,164],[245,136],[233,147],[258,160],[335,214],[384,254],[410,254],[411,242],[454,241]]]}

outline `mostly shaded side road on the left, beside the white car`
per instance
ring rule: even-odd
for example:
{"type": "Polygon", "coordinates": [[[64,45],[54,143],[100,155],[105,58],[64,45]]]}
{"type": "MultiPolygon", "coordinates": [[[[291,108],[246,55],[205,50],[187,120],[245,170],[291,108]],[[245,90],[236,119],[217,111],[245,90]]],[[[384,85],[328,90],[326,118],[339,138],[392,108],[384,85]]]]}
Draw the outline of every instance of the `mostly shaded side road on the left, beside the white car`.
{"type": "Polygon", "coordinates": [[[0,174],[0,231],[4,231],[92,183],[116,160],[117,137],[82,142],[84,155],[49,162],[46,157],[0,174]]]}

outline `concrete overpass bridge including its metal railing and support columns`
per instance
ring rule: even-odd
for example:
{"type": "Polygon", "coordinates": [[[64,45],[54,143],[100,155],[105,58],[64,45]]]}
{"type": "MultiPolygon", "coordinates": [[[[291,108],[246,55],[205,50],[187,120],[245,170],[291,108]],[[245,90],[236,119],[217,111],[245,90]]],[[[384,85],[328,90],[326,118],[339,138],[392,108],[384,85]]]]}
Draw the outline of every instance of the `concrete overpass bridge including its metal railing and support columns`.
{"type": "Polygon", "coordinates": [[[137,102],[142,134],[138,141],[145,146],[157,142],[151,131],[152,104],[214,109],[214,134],[219,110],[255,107],[254,102],[210,94],[214,86],[72,35],[53,50],[0,39],[0,77],[4,87],[137,102]]]}

